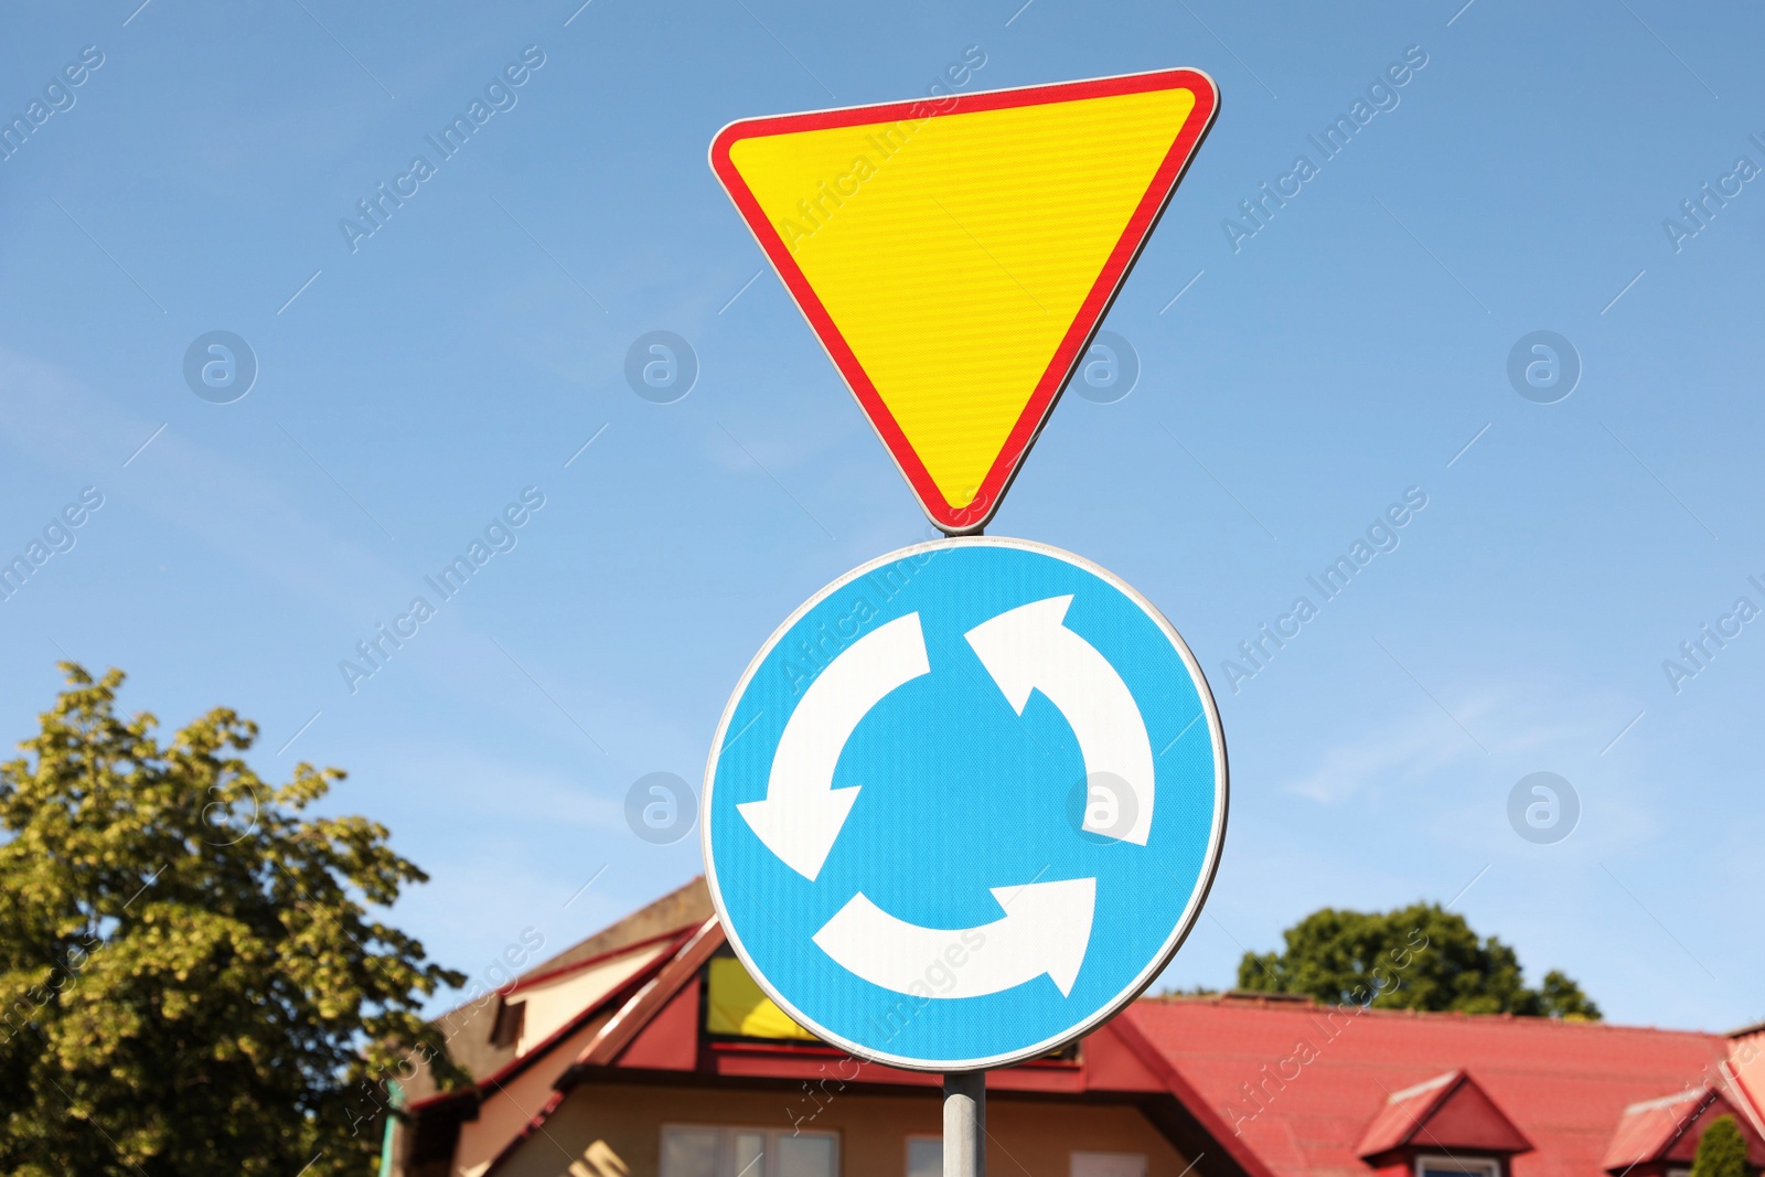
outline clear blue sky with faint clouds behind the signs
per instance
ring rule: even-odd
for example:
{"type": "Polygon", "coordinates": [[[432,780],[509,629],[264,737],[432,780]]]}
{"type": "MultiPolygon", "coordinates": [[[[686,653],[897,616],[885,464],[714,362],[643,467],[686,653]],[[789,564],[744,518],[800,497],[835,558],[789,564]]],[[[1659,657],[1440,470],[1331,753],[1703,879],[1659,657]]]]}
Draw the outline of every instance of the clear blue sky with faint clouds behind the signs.
{"type": "Polygon", "coordinates": [[[168,727],[238,708],[263,775],[349,769],[335,806],[432,875],[397,919],[468,972],[678,886],[697,838],[637,838],[632,783],[697,782],[773,626],[927,529],[750,282],[711,136],[921,95],[971,46],[971,88],[1198,67],[1220,118],[1105,323],[1138,385],[1068,395],[990,528],[1124,577],[1213,679],[1232,826],[1165,983],[1227,985],[1326,903],[1430,898],[1610,1018],[1765,1016],[1765,623],[1663,669],[1765,607],[1758,9],[138,4],[19,5],[0,44],[0,113],[62,108],[0,162],[0,549],[102,494],[0,602],[7,739],[64,651],[168,727]],[[1412,46],[1396,106],[1318,162],[1412,46]],[[339,221],[522,51],[351,249],[339,221]],[[1301,192],[1228,233],[1301,154],[1301,192]],[[258,362],[231,404],[184,378],[214,330],[258,362]],[[697,355],[672,404],[625,381],[651,330],[697,355]],[[1507,376],[1541,330],[1581,367],[1551,404],[1507,376]],[[526,487],[514,547],[351,692],[339,662],[526,487]],[[1228,674],[1412,487],[1396,549],[1228,674]],[[1536,771],[1580,799],[1553,843],[1507,817],[1536,771]]]}

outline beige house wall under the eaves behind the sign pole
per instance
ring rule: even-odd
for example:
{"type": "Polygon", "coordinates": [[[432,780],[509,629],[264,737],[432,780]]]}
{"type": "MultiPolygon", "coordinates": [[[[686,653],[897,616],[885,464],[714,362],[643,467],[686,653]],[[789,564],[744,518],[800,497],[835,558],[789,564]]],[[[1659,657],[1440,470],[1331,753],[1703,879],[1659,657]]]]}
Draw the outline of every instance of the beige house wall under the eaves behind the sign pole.
{"type": "MultiPolygon", "coordinates": [[[[801,1117],[812,1106],[794,1089],[581,1083],[498,1177],[658,1177],[664,1124],[789,1129],[792,1113],[801,1117]]],[[[943,1112],[935,1087],[902,1096],[835,1094],[798,1128],[838,1133],[838,1177],[905,1177],[907,1136],[939,1135],[943,1112]]],[[[987,1131],[994,1177],[1070,1177],[1073,1152],[1137,1152],[1147,1158],[1147,1177],[1183,1177],[1190,1163],[1137,1108],[1123,1105],[990,1092],[987,1131]]]]}

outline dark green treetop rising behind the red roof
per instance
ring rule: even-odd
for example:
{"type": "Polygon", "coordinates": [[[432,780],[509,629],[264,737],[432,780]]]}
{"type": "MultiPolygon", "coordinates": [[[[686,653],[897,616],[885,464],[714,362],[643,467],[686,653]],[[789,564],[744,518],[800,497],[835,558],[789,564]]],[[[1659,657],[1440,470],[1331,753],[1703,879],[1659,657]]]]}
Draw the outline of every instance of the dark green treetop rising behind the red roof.
{"type": "Polygon", "coordinates": [[[1479,941],[1463,916],[1438,903],[1391,912],[1324,907],[1281,935],[1285,951],[1244,953],[1241,990],[1387,1009],[1599,1018],[1599,1006],[1562,972],[1528,988],[1513,948],[1493,935],[1479,941]]]}

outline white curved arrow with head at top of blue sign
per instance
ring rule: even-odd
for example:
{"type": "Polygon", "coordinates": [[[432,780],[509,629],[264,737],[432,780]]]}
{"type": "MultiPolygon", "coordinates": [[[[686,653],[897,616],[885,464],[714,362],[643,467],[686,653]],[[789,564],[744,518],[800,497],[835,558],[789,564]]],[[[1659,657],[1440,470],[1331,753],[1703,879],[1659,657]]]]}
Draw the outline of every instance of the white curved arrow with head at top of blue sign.
{"type": "Polygon", "coordinates": [[[1094,828],[1089,796],[1084,828],[1145,845],[1153,831],[1153,741],[1115,667],[1063,625],[1071,603],[1071,596],[1050,596],[1018,605],[981,621],[964,637],[1013,711],[1024,715],[1029,693],[1040,690],[1066,716],[1085,759],[1087,778],[1108,773],[1126,782],[1135,805],[1128,829],[1094,828]]]}

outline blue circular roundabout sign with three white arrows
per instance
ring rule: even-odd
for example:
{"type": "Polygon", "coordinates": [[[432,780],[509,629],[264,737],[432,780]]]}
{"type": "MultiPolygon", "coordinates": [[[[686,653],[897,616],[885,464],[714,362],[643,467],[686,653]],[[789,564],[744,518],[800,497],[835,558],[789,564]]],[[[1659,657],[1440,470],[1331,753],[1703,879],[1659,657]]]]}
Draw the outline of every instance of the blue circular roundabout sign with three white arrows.
{"type": "Polygon", "coordinates": [[[845,574],[748,665],[704,776],[724,930],[803,1027],[921,1071],[1055,1050],[1170,962],[1225,836],[1220,715],[1170,623],[1041,544],[845,574]]]}

